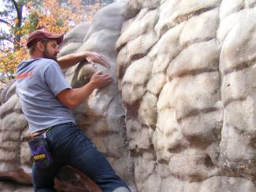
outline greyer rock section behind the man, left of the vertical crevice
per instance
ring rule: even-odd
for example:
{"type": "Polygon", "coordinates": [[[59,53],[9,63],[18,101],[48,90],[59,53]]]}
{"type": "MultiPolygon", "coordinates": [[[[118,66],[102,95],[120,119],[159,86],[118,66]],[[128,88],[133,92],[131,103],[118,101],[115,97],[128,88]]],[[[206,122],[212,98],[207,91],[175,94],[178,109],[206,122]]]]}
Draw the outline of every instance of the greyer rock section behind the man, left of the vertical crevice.
{"type": "MultiPolygon", "coordinates": [[[[83,86],[93,72],[102,70],[114,76],[114,82],[102,90],[95,90],[91,97],[73,109],[77,124],[113,165],[117,174],[134,188],[133,164],[126,142],[124,107],[117,89],[115,77],[115,43],[121,34],[123,17],[121,9],[125,2],[106,6],[96,15],[91,24],[81,24],[72,29],[61,45],[60,56],[76,51],[91,50],[103,54],[111,64],[110,68],[97,65],[93,68],[84,63],[77,64],[65,72],[72,87],[83,86]]],[[[0,180],[14,180],[17,183],[31,184],[31,158],[27,140],[28,123],[21,112],[16,83],[13,81],[0,90],[0,180]]],[[[86,175],[69,167],[63,168],[55,180],[61,191],[100,191],[86,175]]],[[[2,183],[4,191],[20,189],[19,186],[2,183]]],[[[32,187],[27,187],[32,190],[32,187]]],[[[26,189],[27,189],[26,188],[26,189]]],[[[23,188],[22,188],[23,189],[23,188]]],[[[29,190],[28,190],[29,191],[29,190]]]]}

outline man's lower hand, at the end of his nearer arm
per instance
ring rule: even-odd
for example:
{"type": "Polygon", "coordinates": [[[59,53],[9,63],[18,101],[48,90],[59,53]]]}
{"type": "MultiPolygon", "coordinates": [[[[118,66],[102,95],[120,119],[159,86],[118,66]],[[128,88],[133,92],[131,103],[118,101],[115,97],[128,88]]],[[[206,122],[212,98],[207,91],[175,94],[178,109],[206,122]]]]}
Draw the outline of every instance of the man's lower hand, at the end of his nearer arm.
{"type": "Polygon", "coordinates": [[[110,73],[103,74],[102,72],[96,72],[91,76],[90,83],[95,89],[100,89],[108,86],[112,82],[112,75],[110,73]]]}

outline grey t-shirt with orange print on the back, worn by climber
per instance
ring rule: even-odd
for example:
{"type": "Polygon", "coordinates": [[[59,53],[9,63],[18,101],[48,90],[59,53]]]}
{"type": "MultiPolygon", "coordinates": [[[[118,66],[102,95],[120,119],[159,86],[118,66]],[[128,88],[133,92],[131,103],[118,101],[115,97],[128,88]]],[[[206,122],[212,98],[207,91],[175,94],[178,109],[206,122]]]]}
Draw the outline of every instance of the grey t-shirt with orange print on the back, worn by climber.
{"type": "Polygon", "coordinates": [[[31,133],[76,120],[56,97],[70,89],[57,62],[38,58],[22,61],[17,68],[17,94],[31,133]]]}

